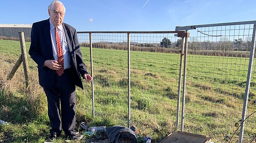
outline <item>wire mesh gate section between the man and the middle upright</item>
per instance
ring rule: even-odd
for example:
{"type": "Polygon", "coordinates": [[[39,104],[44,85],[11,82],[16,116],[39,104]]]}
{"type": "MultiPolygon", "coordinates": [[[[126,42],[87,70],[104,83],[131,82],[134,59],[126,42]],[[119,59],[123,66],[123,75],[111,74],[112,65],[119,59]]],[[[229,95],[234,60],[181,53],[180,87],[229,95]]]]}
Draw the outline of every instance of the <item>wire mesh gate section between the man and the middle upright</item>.
{"type": "MultiPolygon", "coordinates": [[[[78,34],[82,53],[90,53],[89,34],[78,34]],[[86,38],[83,36],[86,35],[86,38]]],[[[127,125],[127,34],[93,33],[93,82],[95,116],[127,125]]],[[[90,65],[90,59],[84,61],[90,65]]],[[[90,101],[91,103],[92,101],[90,101]]],[[[88,108],[92,110],[92,104],[88,108]]]]}

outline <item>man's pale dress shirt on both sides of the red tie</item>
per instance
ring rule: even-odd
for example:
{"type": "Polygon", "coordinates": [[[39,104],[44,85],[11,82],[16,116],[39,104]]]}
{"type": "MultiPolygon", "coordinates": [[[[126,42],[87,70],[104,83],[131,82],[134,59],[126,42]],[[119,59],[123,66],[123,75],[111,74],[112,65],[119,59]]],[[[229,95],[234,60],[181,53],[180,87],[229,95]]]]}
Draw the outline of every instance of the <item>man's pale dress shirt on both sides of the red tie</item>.
{"type": "MultiPolygon", "coordinates": [[[[52,40],[52,54],[55,61],[58,61],[58,54],[57,54],[57,46],[56,46],[56,39],[55,39],[55,26],[50,21],[50,33],[51,33],[51,40],[52,40]]],[[[62,24],[57,28],[59,37],[61,39],[61,48],[63,51],[63,59],[64,59],[64,70],[71,67],[70,64],[70,52],[67,45],[67,40],[65,36],[65,32],[63,30],[62,24]]]]}

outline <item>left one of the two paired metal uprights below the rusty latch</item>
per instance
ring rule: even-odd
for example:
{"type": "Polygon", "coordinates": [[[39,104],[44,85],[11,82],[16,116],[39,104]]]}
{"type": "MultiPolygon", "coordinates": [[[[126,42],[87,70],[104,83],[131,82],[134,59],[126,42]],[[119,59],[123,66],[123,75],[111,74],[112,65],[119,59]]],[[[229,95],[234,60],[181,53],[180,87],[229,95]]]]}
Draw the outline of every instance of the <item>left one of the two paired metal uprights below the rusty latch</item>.
{"type": "Polygon", "coordinates": [[[178,97],[177,97],[177,117],[176,117],[176,130],[177,131],[179,129],[180,92],[181,92],[181,78],[182,78],[184,47],[185,47],[185,41],[184,41],[184,37],[182,37],[182,46],[181,46],[181,51],[180,51],[180,73],[179,73],[178,97]]]}

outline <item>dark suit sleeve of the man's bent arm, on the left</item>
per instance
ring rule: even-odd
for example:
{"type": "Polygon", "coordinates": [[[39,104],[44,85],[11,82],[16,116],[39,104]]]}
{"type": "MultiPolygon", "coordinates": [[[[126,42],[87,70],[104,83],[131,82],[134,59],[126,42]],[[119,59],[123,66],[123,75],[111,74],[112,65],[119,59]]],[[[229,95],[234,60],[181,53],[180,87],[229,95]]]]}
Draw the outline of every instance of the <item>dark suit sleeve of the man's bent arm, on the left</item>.
{"type": "Polygon", "coordinates": [[[39,49],[39,36],[38,36],[38,29],[36,28],[37,26],[35,23],[32,25],[32,30],[31,30],[31,44],[29,48],[29,55],[31,58],[38,64],[38,68],[44,68],[44,62],[45,59],[43,56],[40,54],[40,49],[39,49]]]}

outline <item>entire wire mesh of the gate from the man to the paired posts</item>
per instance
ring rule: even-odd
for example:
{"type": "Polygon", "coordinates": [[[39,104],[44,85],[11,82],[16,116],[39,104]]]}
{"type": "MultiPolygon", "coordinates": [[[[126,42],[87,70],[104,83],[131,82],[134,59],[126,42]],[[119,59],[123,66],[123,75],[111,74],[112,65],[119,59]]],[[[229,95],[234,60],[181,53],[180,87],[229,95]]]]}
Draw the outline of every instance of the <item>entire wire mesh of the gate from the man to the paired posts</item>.
{"type": "MultiPolygon", "coordinates": [[[[88,36],[79,33],[87,54],[88,36]]],[[[122,126],[128,123],[127,37],[128,33],[92,33],[95,113],[122,126]]],[[[175,129],[180,48],[181,40],[174,34],[130,34],[131,126],[142,134],[163,137],[175,129]]]]}

